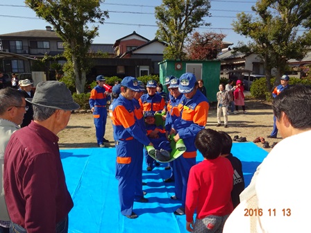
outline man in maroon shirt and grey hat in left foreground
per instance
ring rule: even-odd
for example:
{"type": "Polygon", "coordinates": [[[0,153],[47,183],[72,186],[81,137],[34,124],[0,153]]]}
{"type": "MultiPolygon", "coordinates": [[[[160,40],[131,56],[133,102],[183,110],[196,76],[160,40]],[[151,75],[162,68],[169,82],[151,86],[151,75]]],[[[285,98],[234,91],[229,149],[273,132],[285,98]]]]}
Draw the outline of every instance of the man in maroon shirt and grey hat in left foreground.
{"type": "Polygon", "coordinates": [[[33,121],[15,132],[4,154],[3,187],[12,232],[67,232],[74,203],[67,190],[58,132],[69,121],[74,102],[65,83],[39,83],[33,98],[33,121]]]}

